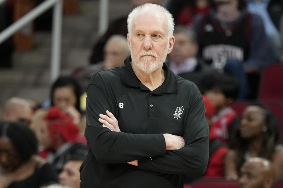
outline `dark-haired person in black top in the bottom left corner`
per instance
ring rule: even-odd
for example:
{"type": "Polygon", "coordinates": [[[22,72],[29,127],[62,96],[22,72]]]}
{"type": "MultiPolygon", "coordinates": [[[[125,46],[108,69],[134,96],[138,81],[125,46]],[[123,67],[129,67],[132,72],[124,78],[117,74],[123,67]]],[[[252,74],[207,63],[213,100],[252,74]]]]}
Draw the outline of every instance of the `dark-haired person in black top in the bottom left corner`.
{"type": "Polygon", "coordinates": [[[58,181],[56,170],[37,156],[37,139],[20,122],[0,122],[0,187],[38,188],[58,181]]]}

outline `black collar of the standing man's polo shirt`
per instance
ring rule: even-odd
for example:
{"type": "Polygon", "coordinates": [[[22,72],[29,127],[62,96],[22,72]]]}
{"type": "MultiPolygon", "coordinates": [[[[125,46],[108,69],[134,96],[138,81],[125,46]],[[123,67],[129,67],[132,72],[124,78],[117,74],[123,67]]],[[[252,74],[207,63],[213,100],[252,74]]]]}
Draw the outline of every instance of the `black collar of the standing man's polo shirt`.
{"type": "MultiPolygon", "coordinates": [[[[141,81],[136,77],[134,70],[131,66],[131,56],[128,56],[124,61],[124,66],[121,69],[121,76],[124,83],[131,87],[139,87],[141,90],[149,90],[141,81]]],[[[177,90],[177,79],[175,74],[168,68],[166,63],[163,63],[164,71],[166,72],[166,77],[161,86],[153,90],[151,93],[157,95],[162,95],[163,93],[173,93],[177,90]]]]}

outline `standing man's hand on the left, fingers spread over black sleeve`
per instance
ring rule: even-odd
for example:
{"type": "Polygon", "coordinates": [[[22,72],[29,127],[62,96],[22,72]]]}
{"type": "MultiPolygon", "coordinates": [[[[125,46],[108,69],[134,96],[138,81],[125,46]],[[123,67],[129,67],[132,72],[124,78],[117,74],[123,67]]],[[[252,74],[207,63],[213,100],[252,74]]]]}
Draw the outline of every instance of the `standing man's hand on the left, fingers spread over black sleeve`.
{"type": "Polygon", "coordinates": [[[119,125],[118,125],[118,120],[115,118],[115,116],[106,110],[107,115],[99,114],[99,119],[98,121],[102,123],[103,127],[109,128],[111,131],[116,131],[116,132],[121,132],[119,125]]]}

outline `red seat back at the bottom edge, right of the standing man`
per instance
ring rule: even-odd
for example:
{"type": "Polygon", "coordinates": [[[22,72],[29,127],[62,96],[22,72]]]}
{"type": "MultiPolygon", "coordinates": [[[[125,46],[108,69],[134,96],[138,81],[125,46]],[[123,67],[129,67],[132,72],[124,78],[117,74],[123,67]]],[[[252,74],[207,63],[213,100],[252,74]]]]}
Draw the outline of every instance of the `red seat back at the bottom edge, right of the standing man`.
{"type": "Polygon", "coordinates": [[[223,179],[200,180],[192,185],[192,188],[237,188],[238,181],[223,179]]]}

